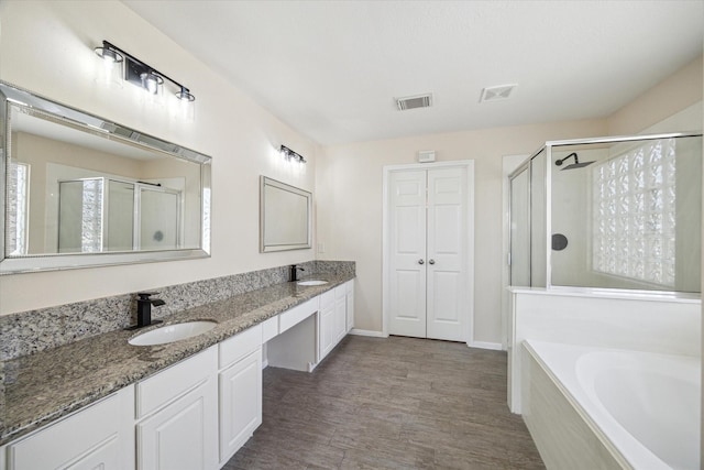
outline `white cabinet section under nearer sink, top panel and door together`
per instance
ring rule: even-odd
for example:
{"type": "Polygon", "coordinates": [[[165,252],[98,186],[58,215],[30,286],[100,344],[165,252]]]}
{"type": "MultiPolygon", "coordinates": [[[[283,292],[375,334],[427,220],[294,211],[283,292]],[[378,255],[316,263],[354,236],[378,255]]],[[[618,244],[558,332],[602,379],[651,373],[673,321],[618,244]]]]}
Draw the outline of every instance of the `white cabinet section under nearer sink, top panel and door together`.
{"type": "Polygon", "coordinates": [[[136,384],[138,470],[218,469],[218,347],[136,384]]]}

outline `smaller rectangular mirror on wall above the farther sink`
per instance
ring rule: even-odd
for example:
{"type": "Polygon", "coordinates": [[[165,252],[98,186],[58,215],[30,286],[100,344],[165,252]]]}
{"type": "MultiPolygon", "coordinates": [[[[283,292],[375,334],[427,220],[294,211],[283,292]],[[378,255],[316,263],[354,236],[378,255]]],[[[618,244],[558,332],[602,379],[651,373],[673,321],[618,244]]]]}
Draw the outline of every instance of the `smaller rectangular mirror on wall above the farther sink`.
{"type": "Polygon", "coordinates": [[[260,177],[260,252],[310,248],[312,194],[260,177]]]}

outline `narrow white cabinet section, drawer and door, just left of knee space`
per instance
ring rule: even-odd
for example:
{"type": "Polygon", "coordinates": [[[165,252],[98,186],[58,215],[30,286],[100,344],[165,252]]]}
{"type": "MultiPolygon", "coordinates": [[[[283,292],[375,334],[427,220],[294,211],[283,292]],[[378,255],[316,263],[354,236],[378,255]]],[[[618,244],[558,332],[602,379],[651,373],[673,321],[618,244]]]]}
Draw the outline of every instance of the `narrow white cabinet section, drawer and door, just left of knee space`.
{"type": "Polygon", "coordinates": [[[256,325],[219,346],[220,466],[262,424],[262,338],[256,325]]]}

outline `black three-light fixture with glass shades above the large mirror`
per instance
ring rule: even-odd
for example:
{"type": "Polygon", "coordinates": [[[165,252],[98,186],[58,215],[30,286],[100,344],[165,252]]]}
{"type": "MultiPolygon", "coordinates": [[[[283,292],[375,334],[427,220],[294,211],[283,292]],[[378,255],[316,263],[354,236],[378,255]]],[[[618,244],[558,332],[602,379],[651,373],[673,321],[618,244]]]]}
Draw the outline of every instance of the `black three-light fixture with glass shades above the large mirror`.
{"type": "Polygon", "coordinates": [[[99,57],[102,57],[102,59],[110,65],[124,63],[125,66],[122,78],[138,87],[144,88],[152,95],[158,95],[164,83],[168,81],[178,90],[175,92],[176,98],[184,102],[193,102],[196,100],[196,97],[188,88],[108,41],[103,41],[102,46],[96,47],[95,51],[99,57]]]}

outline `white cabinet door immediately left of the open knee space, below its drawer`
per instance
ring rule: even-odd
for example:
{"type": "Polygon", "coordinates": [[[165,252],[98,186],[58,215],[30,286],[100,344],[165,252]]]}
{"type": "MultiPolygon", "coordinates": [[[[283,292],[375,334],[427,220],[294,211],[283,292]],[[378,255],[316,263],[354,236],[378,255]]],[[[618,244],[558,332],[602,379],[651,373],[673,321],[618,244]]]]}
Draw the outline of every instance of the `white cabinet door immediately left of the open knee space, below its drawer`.
{"type": "Polygon", "coordinates": [[[220,464],[262,424],[262,350],[222,371],[220,386],[220,464]]]}

